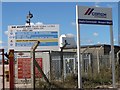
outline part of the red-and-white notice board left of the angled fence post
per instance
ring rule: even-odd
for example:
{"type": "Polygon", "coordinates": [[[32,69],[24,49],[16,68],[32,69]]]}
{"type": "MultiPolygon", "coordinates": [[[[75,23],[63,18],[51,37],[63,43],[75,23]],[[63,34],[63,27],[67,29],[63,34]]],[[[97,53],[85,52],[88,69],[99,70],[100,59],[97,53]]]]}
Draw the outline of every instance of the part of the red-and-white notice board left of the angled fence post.
{"type": "Polygon", "coordinates": [[[31,88],[30,52],[15,53],[15,88],[31,88]]]}

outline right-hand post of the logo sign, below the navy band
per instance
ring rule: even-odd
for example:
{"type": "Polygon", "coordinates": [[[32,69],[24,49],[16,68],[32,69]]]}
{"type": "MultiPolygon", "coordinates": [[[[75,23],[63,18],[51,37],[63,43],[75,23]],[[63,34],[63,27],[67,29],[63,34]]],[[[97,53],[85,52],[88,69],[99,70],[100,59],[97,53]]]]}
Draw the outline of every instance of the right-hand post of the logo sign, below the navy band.
{"type": "Polygon", "coordinates": [[[112,82],[113,88],[115,85],[115,59],[114,59],[114,42],[113,42],[113,26],[110,25],[110,41],[111,41],[111,60],[112,60],[112,82]]]}

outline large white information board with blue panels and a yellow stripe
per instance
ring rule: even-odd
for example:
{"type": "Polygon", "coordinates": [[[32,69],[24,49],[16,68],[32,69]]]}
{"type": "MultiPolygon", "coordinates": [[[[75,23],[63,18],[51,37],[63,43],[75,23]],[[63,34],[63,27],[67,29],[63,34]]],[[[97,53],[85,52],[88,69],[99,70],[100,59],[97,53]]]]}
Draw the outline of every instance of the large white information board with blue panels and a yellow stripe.
{"type": "Polygon", "coordinates": [[[38,50],[58,50],[59,25],[9,26],[8,48],[15,51],[30,51],[35,41],[40,41],[38,50]]]}

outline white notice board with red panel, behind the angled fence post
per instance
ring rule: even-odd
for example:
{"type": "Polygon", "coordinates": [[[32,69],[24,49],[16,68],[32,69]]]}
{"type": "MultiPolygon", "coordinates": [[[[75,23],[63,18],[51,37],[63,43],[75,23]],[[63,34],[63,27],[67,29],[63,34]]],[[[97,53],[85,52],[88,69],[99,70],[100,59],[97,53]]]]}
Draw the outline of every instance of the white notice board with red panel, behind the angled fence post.
{"type": "MultiPolygon", "coordinates": [[[[44,74],[49,77],[50,61],[49,53],[35,52],[35,60],[43,70],[44,74]]],[[[15,56],[15,87],[16,88],[31,88],[31,54],[30,52],[17,52],[15,56]]],[[[42,74],[35,67],[36,87],[38,81],[44,80],[42,74]]]]}

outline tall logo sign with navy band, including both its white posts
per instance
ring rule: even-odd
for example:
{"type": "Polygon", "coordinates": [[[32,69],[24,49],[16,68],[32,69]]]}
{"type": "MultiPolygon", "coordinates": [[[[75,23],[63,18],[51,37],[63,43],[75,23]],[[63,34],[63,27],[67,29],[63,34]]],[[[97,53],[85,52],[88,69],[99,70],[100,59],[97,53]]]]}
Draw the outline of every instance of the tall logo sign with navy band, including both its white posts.
{"type": "Polygon", "coordinates": [[[115,88],[115,59],[113,41],[112,9],[101,7],[85,7],[76,5],[77,26],[77,56],[78,56],[78,88],[82,88],[81,80],[81,58],[80,58],[80,26],[79,24],[110,25],[111,59],[112,59],[112,82],[115,88]]]}

